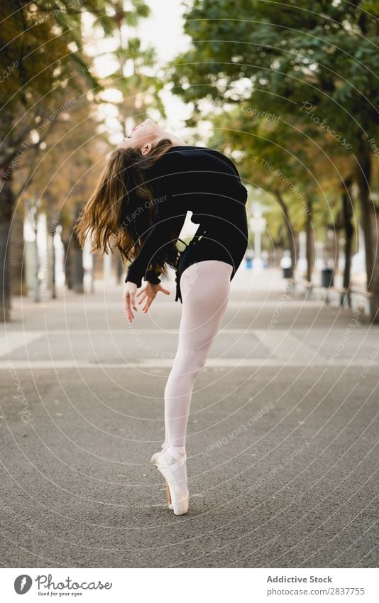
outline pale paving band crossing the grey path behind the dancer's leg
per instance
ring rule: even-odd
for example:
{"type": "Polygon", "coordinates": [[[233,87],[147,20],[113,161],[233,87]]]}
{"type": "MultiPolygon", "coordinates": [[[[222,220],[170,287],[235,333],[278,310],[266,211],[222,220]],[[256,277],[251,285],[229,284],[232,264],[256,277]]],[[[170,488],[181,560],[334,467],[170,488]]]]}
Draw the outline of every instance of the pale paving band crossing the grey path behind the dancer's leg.
{"type": "MultiPolygon", "coordinates": [[[[136,332],[140,336],[151,335],[162,339],[164,336],[174,335],[177,336],[179,333],[178,329],[160,329],[160,328],[146,328],[140,329],[134,325],[128,325],[125,329],[73,329],[73,330],[38,330],[38,331],[22,331],[22,330],[8,330],[2,332],[0,335],[1,348],[0,349],[0,370],[9,370],[10,362],[12,366],[20,370],[54,370],[54,369],[167,369],[172,366],[174,359],[175,349],[172,349],[170,356],[154,357],[154,358],[141,358],[139,360],[133,359],[133,362],[123,362],[122,359],[109,359],[101,357],[101,353],[97,352],[97,344],[99,339],[95,337],[101,337],[101,344],[106,340],[107,344],[111,344],[111,340],[116,336],[126,336],[126,342],[133,343],[133,333],[136,332]],[[130,332],[129,332],[130,331],[130,332]],[[38,350],[33,349],[33,359],[28,360],[28,355],[20,357],[18,359],[12,359],[12,352],[23,347],[27,348],[28,344],[35,342],[38,339],[44,339],[42,344],[38,344],[38,350]],[[79,338],[79,347],[76,349],[79,338]],[[129,340],[130,338],[130,340],[129,340]],[[88,354],[84,352],[85,347],[82,347],[83,339],[91,342],[92,352],[88,354]],[[51,348],[50,344],[54,344],[53,349],[60,350],[60,359],[54,359],[49,357],[51,348]],[[62,349],[63,347],[63,349],[62,349]],[[67,347],[67,354],[63,353],[65,347],[67,347]],[[36,355],[35,352],[38,352],[36,355]],[[63,359],[62,359],[63,356],[63,359]],[[66,358],[65,358],[66,356],[66,358]],[[98,356],[98,358],[97,358],[98,356]]],[[[209,359],[207,362],[206,369],[216,368],[254,368],[256,366],[362,366],[368,362],[368,357],[364,354],[363,349],[361,353],[359,351],[359,344],[361,340],[366,338],[366,330],[356,330],[351,333],[351,341],[346,343],[346,347],[350,344],[351,348],[358,350],[359,356],[353,357],[351,354],[339,354],[334,358],[333,364],[328,363],[329,349],[332,351],[336,344],[341,341],[342,335],[346,332],[345,329],[333,329],[319,328],[317,333],[320,337],[324,336],[323,352],[317,350],[317,344],[314,343],[314,347],[310,346],[308,342],[311,340],[307,335],[304,334],[302,329],[279,329],[264,330],[264,329],[229,329],[225,327],[219,331],[217,337],[225,337],[226,335],[240,336],[238,339],[243,340],[243,337],[255,337],[258,342],[263,344],[263,351],[260,352],[260,357],[246,358],[246,357],[220,357],[209,359]],[[326,352],[326,347],[328,352],[326,352]],[[265,353],[265,351],[267,352],[265,353]]],[[[154,337],[152,337],[154,340],[154,337]]],[[[252,347],[256,347],[256,340],[251,342],[252,347]]],[[[116,346],[117,347],[117,346],[116,346]]],[[[26,354],[28,350],[26,349],[26,354]]],[[[124,356],[128,356],[128,352],[124,350],[124,356]]],[[[373,366],[378,366],[379,360],[375,359],[372,362],[373,366]]]]}

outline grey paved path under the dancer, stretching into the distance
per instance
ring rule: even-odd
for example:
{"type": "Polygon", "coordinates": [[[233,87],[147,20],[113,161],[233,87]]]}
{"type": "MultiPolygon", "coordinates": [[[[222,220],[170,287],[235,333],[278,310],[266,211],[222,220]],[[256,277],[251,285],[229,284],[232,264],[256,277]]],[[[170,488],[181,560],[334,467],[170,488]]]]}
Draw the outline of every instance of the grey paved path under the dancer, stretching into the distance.
{"type": "Polygon", "coordinates": [[[180,303],[97,283],[1,327],[5,567],[377,567],[379,331],[241,268],[194,387],[190,511],[150,455],[180,303]]]}

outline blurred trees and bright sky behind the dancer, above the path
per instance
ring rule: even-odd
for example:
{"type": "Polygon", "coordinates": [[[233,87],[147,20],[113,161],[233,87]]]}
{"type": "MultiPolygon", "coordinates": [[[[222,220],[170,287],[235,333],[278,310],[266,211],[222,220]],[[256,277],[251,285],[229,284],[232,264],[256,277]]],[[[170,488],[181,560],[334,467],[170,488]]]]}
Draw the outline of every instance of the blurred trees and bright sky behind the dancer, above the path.
{"type": "Polygon", "coordinates": [[[123,282],[119,257],[82,251],[72,228],[107,153],[149,116],[238,165],[245,282],[274,270],[294,294],[351,308],[364,292],[379,322],[378,12],[376,0],[3,4],[0,320],[15,296],[123,282]]]}

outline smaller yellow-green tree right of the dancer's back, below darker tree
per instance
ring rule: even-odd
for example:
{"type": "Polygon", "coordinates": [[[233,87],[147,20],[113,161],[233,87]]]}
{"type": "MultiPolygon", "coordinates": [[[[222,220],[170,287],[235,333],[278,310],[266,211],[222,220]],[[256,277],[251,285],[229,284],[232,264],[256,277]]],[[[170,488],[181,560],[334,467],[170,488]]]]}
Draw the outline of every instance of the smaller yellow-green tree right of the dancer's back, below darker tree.
{"type": "MultiPolygon", "coordinates": [[[[214,126],[210,143],[230,153],[246,182],[268,192],[270,205],[276,203],[293,270],[297,264],[297,233],[305,230],[307,280],[311,281],[315,237],[322,231],[321,218],[324,214],[329,220],[334,216],[333,197],[331,202],[326,198],[327,190],[338,182],[336,175],[331,178],[329,157],[332,151],[328,149],[327,154],[315,152],[300,129],[282,124],[275,114],[252,120],[248,108],[248,104],[241,104],[216,116],[207,116],[214,126]],[[234,151],[238,148],[243,151],[234,151]]],[[[277,215],[278,211],[268,214],[270,232],[277,228],[277,215]]]]}

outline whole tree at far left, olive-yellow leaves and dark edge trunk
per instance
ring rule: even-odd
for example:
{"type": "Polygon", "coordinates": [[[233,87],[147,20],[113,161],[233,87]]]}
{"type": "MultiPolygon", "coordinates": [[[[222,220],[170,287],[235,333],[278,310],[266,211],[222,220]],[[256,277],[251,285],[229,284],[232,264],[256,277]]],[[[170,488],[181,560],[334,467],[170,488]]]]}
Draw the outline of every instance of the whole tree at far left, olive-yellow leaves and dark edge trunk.
{"type": "Polygon", "coordinates": [[[85,98],[88,88],[94,91],[94,102],[99,98],[101,85],[82,50],[82,13],[92,14],[94,26],[111,36],[115,16],[136,23],[148,13],[137,0],[128,5],[128,11],[114,0],[11,0],[0,6],[0,320],[9,318],[11,305],[9,232],[15,173],[27,156],[43,150],[67,104],[85,98]]]}

